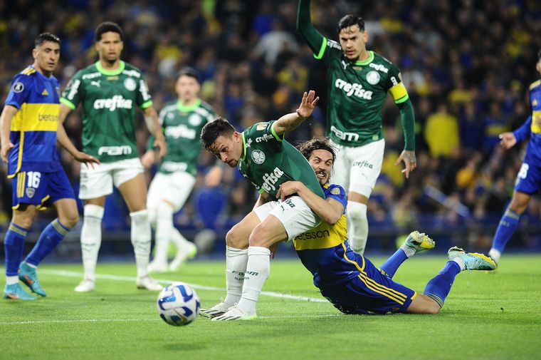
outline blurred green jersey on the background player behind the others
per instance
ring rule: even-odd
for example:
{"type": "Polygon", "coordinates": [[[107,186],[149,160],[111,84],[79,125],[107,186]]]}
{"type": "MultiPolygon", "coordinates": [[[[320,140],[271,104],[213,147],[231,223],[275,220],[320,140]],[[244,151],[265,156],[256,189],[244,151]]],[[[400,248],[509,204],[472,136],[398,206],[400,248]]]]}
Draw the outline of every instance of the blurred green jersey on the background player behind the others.
{"type": "Polygon", "coordinates": [[[201,129],[216,117],[211,106],[198,99],[193,106],[179,101],[167,103],[159,113],[167,145],[167,155],[159,164],[161,173],[185,171],[197,175],[197,160],[201,153],[201,129]]]}

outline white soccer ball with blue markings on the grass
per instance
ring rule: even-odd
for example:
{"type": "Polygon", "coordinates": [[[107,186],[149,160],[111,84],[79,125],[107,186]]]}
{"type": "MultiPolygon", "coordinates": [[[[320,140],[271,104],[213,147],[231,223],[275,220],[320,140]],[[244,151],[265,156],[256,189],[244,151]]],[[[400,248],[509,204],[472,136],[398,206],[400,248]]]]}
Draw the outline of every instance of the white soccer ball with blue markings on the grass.
{"type": "Polygon", "coordinates": [[[174,282],[159,292],[157,299],[159,317],[173,326],[184,326],[199,314],[199,297],[194,289],[184,282],[174,282]]]}

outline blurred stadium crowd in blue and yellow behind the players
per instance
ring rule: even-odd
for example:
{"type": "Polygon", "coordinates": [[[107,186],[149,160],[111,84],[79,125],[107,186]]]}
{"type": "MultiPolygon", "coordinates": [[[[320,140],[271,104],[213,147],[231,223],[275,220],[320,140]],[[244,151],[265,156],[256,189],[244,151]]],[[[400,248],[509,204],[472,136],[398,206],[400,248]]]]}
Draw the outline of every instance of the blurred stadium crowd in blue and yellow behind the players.
{"type": "MultiPolygon", "coordinates": [[[[32,62],[37,34],[61,37],[56,76],[65,86],[75,71],[97,60],[95,26],[115,21],[125,31],[122,59],[145,72],[158,110],[176,98],[175,74],[187,65],[199,73],[201,98],[238,130],[295,110],[303,91],[312,88],[322,98],[320,108],[287,138],[305,140],[325,131],[326,76],[295,31],[296,13],[292,0],[1,1],[2,104],[11,78],[32,62]]],[[[315,27],[328,38],[337,38],[337,21],[349,13],[365,19],[368,48],[401,68],[416,115],[418,168],[405,180],[394,166],[403,137],[398,110],[388,98],[384,165],[369,202],[368,250],[414,229],[488,249],[525,148],[504,151],[498,134],[518,128],[530,111],[527,90],[538,78],[541,2],[312,1],[315,27]]],[[[66,128],[80,146],[80,113],[70,115],[66,128]]],[[[137,138],[143,151],[142,119],[137,138]]],[[[67,154],[63,161],[77,187],[78,164],[67,154]]],[[[236,169],[225,171],[219,188],[204,187],[202,175],[213,163],[203,153],[196,190],[176,217],[181,230],[223,232],[253,206],[255,191],[236,169]]],[[[5,227],[11,185],[5,168],[2,173],[0,223],[5,227]]],[[[534,198],[515,245],[541,248],[540,214],[534,198]]],[[[105,227],[124,230],[128,221],[120,196],[107,200],[105,227]]]]}

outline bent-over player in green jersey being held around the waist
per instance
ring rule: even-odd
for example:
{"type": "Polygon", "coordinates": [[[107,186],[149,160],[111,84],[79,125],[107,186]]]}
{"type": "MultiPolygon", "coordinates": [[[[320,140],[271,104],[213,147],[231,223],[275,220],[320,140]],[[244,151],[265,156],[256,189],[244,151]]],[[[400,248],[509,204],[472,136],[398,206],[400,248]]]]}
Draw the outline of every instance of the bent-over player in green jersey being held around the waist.
{"type": "MultiPolygon", "coordinates": [[[[261,196],[268,194],[276,199],[280,184],[298,180],[323,197],[310,164],[284,140],[285,133],[312,114],[318,100],[314,91],[304,93],[295,113],[257,123],[243,133],[238,133],[227,120],[217,118],[204,126],[201,143],[231,168],[237,167],[261,196]]],[[[270,248],[312,229],[320,221],[298,195],[266,202],[246,215],[226,235],[226,299],[206,309],[207,316],[221,314],[214,318],[217,320],[255,318],[256,302],[270,273],[270,248]]]]}

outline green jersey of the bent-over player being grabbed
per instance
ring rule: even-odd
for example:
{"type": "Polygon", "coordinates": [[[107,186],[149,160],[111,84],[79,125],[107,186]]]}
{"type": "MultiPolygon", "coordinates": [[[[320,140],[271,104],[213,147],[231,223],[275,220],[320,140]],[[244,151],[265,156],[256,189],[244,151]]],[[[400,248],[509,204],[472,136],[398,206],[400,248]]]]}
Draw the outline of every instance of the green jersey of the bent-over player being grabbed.
{"type": "Polygon", "coordinates": [[[278,136],[274,121],[257,123],[243,131],[243,156],[238,160],[238,171],[256,186],[257,190],[276,197],[283,182],[303,182],[312,192],[325,198],[312,166],[293,145],[278,136]]]}

